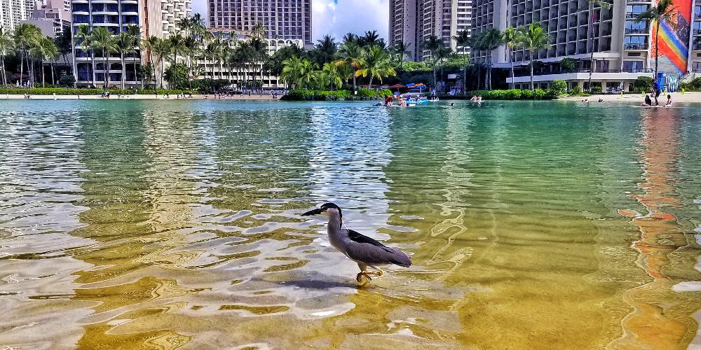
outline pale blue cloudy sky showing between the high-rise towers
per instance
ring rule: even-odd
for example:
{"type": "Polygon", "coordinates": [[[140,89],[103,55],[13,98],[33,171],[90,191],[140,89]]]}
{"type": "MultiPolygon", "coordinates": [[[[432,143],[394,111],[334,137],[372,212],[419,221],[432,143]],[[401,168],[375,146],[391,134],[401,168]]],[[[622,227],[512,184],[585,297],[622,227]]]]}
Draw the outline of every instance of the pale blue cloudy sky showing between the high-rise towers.
{"type": "MultiPolygon", "coordinates": [[[[207,18],[207,0],[193,0],[192,10],[207,18]]],[[[362,34],[367,30],[376,30],[381,38],[387,38],[389,3],[388,0],[312,0],[312,19],[315,41],[325,34],[341,41],[349,31],[362,34]]]]}

